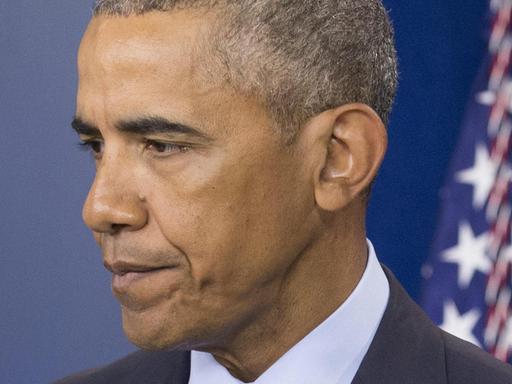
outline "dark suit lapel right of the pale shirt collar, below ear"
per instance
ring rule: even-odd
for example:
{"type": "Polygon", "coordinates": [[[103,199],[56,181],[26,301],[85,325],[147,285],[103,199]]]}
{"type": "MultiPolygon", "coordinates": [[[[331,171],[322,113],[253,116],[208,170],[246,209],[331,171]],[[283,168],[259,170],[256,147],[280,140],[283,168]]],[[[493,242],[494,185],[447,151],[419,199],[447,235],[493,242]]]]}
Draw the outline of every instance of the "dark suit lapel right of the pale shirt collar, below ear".
{"type": "Polygon", "coordinates": [[[389,303],[353,384],[446,384],[444,343],[426,317],[384,267],[389,303]]]}

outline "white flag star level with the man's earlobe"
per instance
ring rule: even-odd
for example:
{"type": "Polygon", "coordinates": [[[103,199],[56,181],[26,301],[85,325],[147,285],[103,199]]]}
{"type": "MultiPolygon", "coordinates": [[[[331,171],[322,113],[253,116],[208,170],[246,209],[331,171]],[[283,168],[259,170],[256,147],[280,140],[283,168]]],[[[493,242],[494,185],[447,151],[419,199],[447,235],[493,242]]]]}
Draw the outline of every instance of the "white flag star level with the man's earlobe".
{"type": "Polygon", "coordinates": [[[489,198],[498,166],[492,161],[487,147],[480,143],[476,147],[475,165],[456,175],[459,183],[473,185],[473,207],[482,208],[489,198]]]}

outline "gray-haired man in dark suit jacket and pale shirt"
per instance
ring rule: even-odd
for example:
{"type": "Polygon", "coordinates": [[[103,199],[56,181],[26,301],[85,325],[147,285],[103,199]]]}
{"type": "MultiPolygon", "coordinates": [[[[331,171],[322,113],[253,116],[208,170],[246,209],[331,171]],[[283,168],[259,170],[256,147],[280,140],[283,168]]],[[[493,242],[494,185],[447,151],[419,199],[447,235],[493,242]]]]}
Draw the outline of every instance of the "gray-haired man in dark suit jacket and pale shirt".
{"type": "Polygon", "coordinates": [[[397,77],[380,1],[100,0],[78,62],[83,216],[145,351],[61,383],[512,382],[366,240],[397,77]]]}

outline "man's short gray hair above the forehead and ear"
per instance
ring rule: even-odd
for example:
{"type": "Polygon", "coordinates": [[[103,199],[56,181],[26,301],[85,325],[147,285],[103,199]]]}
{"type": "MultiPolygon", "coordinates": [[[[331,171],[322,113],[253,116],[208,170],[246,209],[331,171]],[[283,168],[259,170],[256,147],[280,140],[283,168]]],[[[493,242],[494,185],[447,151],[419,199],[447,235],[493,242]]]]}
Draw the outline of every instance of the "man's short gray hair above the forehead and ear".
{"type": "Polygon", "coordinates": [[[285,133],[352,102],[387,124],[397,88],[393,28],[380,0],[97,0],[95,15],[205,8],[231,85],[258,97],[285,133]]]}

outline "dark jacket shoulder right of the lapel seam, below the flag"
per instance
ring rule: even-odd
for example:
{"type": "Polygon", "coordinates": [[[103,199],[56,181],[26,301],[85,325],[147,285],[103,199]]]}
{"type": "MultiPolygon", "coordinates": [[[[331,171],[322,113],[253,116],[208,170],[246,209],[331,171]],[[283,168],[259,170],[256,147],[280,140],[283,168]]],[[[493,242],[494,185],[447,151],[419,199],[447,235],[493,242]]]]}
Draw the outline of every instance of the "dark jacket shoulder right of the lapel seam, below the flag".
{"type": "Polygon", "coordinates": [[[512,383],[512,366],[471,343],[441,331],[449,384],[512,383]]]}

